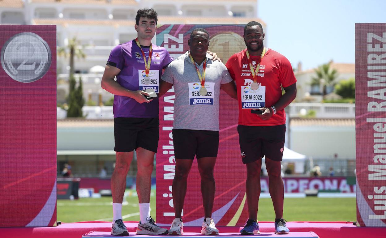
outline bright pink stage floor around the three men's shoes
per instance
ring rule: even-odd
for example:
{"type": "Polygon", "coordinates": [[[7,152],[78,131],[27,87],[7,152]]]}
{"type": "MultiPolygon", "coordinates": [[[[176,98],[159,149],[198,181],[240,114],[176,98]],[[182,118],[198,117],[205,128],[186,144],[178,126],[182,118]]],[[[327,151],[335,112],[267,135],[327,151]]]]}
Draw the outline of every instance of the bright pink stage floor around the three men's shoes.
{"type": "MultiPolygon", "coordinates": [[[[137,221],[125,221],[130,235],[134,235],[137,227],[137,221]]],[[[259,222],[260,236],[266,236],[264,233],[274,233],[273,222],[259,222]]],[[[288,222],[287,226],[291,233],[295,232],[314,232],[320,238],[385,238],[386,228],[381,227],[356,227],[348,222],[307,222],[295,221],[288,222]]],[[[218,226],[220,233],[232,233],[239,235],[240,227],[218,226]]],[[[107,221],[83,221],[78,223],[62,223],[56,227],[13,227],[0,228],[1,238],[81,238],[82,235],[92,231],[111,231],[111,222],[107,221]]],[[[200,227],[185,226],[185,233],[198,233],[200,227]]],[[[230,236],[229,234],[224,236],[230,236]]],[[[233,236],[233,235],[232,235],[233,236]]],[[[256,235],[259,236],[259,235],[256,235]]],[[[170,236],[169,236],[170,237],[170,236]]],[[[284,238],[284,236],[283,236],[284,238]]]]}

